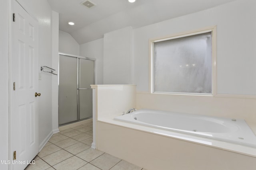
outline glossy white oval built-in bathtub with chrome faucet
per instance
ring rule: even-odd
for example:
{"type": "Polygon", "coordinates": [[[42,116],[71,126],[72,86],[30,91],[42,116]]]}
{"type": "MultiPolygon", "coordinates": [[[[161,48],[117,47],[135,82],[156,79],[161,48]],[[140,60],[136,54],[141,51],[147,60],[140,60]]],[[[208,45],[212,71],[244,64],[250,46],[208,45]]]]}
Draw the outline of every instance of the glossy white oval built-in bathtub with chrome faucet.
{"type": "Polygon", "coordinates": [[[242,119],[140,109],[114,120],[256,148],[256,136],[242,119]]]}

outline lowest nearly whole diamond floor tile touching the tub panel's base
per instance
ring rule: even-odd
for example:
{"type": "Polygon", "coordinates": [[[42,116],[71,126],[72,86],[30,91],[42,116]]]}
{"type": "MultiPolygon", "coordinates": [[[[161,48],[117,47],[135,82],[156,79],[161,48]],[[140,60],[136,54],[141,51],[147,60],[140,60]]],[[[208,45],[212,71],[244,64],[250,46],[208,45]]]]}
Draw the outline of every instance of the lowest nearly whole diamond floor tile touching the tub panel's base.
{"type": "Polygon", "coordinates": [[[110,154],[104,153],[98,158],[92,160],[90,164],[93,164],[94,166],[97,166],[102,170],[109,170],[120,161],[121,159],[116,158],[110,154]]]}

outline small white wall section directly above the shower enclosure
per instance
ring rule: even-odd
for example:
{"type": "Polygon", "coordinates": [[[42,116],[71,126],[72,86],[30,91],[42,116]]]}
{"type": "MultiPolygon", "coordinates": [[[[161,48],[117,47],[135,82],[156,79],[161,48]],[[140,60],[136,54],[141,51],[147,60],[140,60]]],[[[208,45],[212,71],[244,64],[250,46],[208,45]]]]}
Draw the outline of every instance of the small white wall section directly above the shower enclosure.
{"type": "Polygon", "coordinates": [[[59,52],[79,55],[79,44],[69,33],[64,31],[59,31],[59,52]]]}

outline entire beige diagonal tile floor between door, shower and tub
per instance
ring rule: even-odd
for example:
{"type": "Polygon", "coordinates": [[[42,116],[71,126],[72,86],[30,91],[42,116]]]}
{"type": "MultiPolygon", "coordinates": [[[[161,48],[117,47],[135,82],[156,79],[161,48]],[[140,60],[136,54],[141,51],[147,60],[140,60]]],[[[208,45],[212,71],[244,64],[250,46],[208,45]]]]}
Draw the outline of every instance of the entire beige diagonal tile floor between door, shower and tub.
{"type": "Polygon", "coordinates": [[[92,149],[92,123],[52,135],[25,170],[146,170],[92,149]]]}

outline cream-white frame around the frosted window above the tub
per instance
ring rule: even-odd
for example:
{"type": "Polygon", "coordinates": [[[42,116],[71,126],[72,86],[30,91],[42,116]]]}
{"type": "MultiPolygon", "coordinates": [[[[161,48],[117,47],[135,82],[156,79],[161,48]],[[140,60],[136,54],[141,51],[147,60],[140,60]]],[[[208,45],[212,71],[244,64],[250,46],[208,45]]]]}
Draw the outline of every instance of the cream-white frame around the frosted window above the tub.
{"type": "Polygon", "coordinates": [[[195,95],[195,96],[216,96],[216,87],[217,87],[217,81],[216,81],[216,25],[211,27],[206,27],[203,29],[197,29],[194,31],[187,31],[182,33],[176,33],[173,35],[165,36],[165,37],[158,37],[155,39],[149,40],[149,49],[150,49],[150,59],[149,59],[149,70],[150,70],[150,81],[149,81],[149,87],[150,87],[150,93],[151,94],[174,94],[174,95],[195,95]],[[154,43],[160,42],[160,41],[166,41],[170,39],[177,39],[181,37],[187,37],[191,35],[197,35],[202,33],[212,32],[212,94],[200,94],[200,93],[174,93],[174,92],[168,92],[168,93],[159,93],[154,92],[154,43]]]}

